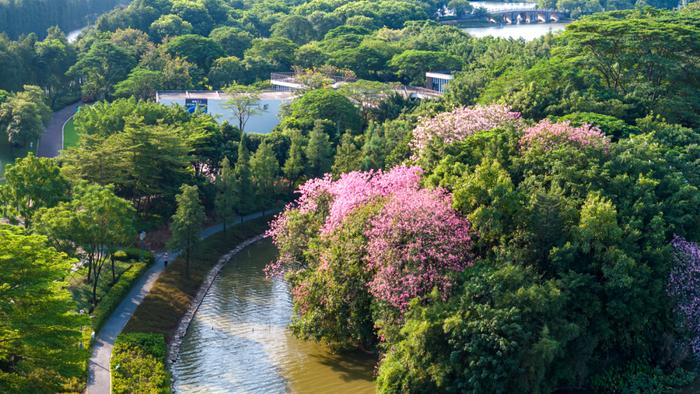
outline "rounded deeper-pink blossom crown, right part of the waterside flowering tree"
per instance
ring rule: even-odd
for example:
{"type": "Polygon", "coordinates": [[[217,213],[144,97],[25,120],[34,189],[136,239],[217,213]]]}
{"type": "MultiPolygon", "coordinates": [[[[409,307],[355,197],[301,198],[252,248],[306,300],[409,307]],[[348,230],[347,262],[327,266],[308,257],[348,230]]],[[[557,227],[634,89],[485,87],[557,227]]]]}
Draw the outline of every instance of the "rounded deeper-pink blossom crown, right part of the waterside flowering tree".
{"type": "Polygon", "coordinates": [[[434,287],[449,292],[450,272],[470,263],[469,223],[451,201],[442,190],[402,190],[372,220],[365,235],[373,296],[403,311],[434,287]]]}

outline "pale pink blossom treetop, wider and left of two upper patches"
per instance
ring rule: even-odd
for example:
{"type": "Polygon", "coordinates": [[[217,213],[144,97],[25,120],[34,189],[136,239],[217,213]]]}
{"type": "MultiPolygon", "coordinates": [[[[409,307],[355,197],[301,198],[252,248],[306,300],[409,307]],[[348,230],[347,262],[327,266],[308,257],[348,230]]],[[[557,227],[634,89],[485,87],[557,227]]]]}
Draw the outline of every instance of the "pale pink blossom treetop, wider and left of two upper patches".
{"type": "Polygon", "coordinates": [[[411,148],[414,153],[423,150],[433,139],[447,144],[462,141],[479,131],[487,131],[509,124],[519,124],[520,113],[511,112],[505,105],[477,105],[443,112],[433,118],[423,118],[413,130],[411,148]]]}

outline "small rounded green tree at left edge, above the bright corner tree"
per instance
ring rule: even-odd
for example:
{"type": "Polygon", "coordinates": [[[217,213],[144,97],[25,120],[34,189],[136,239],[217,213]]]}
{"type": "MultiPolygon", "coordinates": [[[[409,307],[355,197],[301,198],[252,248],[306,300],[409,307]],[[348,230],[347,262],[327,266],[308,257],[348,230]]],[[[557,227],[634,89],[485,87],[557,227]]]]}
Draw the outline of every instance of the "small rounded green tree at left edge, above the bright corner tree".
{"type": "Polygon", "coordinates": [[[34,213],[66,198],[68,182],[54,159],[32,153],[5,166],[5,183],[0,185],[0,207],[13,221],[31,224],[34,213]]]}

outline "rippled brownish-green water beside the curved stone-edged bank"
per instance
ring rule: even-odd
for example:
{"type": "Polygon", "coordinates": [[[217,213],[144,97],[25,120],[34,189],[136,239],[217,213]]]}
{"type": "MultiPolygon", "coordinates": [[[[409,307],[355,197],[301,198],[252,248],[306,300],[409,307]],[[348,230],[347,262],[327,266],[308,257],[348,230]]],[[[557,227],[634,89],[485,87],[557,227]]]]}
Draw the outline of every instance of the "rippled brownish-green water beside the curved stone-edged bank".
{"type": "Polygon", "coordinates": [[[287,284],[262,269],[270,241],[234,257],[205,297],[173,366],[177,393],[374,393],[374,360],[291,335],[287,284]]]}

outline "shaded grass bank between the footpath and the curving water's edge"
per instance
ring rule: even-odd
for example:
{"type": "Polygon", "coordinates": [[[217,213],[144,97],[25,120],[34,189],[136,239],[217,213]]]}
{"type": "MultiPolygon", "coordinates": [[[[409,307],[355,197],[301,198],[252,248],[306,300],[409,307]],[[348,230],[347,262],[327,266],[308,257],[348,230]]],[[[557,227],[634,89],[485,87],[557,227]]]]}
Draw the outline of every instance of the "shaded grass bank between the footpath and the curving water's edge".
{"type": "Polygon", "coordinates": [[[226,233],[218,233],[202,241],[192,256],[189,279],[184,274],[185,261],[178,257],[160,275],[124,332],[159,333],[169,340],[221,255],[240,242],[262,234],[267,229],[270,218],[268,216],[232,226],[226,233]]]}

